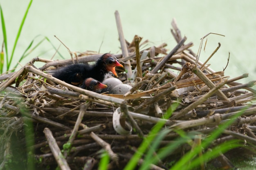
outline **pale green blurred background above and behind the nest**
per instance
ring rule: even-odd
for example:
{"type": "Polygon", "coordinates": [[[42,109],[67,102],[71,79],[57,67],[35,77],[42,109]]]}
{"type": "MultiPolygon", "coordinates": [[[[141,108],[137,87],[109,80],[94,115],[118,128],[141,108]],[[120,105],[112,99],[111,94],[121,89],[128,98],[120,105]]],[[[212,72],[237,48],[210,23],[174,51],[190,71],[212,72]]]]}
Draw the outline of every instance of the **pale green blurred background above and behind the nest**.
{"type": "MultiPolygon", "coordinates": [[[[20,22],[29,0],[0,0],[7,28],[9,53],[14,44],[20,22]]],[[[234,78],[249,73],[249,78],[240,82],[256,79],[254,46],[256,45],[256,1],[255,0],[34,0],[22,29],[14,60],[20,58],[31,40],[43,36],[58,47],[60,38],[71,51],[99,51],[101,53],[121,53],[115,22],[115,10],[119,11],[126,40],[132,41],[134,35],[150,40],[151,45],[162,42],[171,50],[176,42],[171,35],[171,20],[176,19],[182,35],[193,42],[197,53],[200,38],[209,35],[206,51],[200,60],[204,62],[221,43],[219,51],[209,63],[215,71],[229,66],[225,75],[234,78]],[[102,45],[101,45],[102,43],[102,45]]],[[[0,41],[3,40],[0,33],[0,41]]],[[[65,58],[70,55],[61,45],[59,51],[65,58]]],[[[33,57],[50,59],[55,53],[49,42],[45,41],[21,64],[33,57]]],[[[57,54],[54,60],[61,59],[57,54]]],[[[14,65],[14,64],[13,64],[14,65]]]]}

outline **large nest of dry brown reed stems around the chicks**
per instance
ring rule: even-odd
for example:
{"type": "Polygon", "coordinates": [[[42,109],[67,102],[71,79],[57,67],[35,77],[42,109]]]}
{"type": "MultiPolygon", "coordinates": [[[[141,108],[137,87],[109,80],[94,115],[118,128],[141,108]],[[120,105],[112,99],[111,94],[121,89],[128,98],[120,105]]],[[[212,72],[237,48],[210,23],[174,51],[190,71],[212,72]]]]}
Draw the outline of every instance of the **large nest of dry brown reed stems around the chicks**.
{"type": "MultiPolygon", "coordinates": [[[[122,54],[115,57],[125,71],[116,71],[122,82],[132,85],[124,95],[95,93],[47,73],[72,62],[94,62],[101,55],[92,52],[62,61],[35,58],[19,71],[0,76],[1,168],[10,159],[19,162],[25,157],[39,169],[97,169],[104,149],[110,156],[109,169],[123,169],[159,122],[164,122],[162,129],[170,129],[160,141],[164,147],[179,136],[177,129],[204,137],[240,110],[235,123],[214,142],[239,138],[255,145],[256,107],[249,104],[255,100],[255,81],[240,84],[236,81],[248,74],[228,79],[224,71],[215,72],[198,61],[190,49],[193,43],[185,44],[186,37],[174,21],[172,25],[177,46],[169,53],[166,44],[139,50],[148,41],[139,43],[141,38],[135,36],[129,43],[119,29],[122,54]],[[35,62],[45,65],[36,68],[35,62]]],[[[181,144],[169,155],[191,147],[181,144]]],[[[164,158],[150,167],[170,168],[168,163],[175,159],[164,158]]],[[[143,157],[138,166],[141,162],[143,157]]],[[[27,169],[27,163],[8,167],[27,169]]]]}

